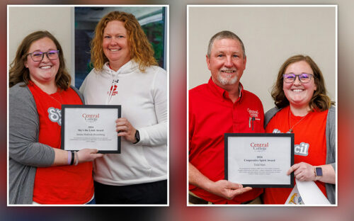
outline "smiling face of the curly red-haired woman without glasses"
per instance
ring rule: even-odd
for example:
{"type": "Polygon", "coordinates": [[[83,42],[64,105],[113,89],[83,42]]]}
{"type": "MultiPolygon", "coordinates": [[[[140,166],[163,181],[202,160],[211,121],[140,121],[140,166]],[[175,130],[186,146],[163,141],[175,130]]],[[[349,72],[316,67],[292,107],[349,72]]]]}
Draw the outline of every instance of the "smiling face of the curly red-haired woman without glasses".
{"type": "Polygon", "coordinates": [[[115,71],[130,61],[127,37],[127,29],[122,21],[110,21],[103,30],[103,53],[115,71]]]}

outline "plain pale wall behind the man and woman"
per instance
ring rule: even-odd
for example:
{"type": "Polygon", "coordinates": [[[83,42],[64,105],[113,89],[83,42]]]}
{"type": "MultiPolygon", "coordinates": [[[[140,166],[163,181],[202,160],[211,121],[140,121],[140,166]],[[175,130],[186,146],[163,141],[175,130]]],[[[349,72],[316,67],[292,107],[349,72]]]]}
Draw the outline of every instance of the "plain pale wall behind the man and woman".
{"type": "Polygon", "coordinates": [[[336,8],[292,6],[189,7],[188,89],[210,78],[205,55],[215,33],[231,30],[244,42],[247,63],[241,83],[268,111],[278,70],[292,55],[312,57],[336,101],[336,8]]]}

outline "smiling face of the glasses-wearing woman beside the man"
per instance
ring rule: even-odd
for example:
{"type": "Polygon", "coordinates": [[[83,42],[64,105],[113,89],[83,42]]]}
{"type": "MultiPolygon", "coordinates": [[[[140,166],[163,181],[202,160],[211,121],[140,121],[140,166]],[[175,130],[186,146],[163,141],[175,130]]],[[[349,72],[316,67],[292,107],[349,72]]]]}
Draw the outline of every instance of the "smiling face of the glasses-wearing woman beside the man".
{"type": "MultiPolygon", "coordinates": [[[[284,74],[314,74],[312,68],[305,61],[299,61],[290,64],[285,69],[284,74]]],[[[290,106],[297,108],[307,108],[309,106],[309,101],[311,100],[314,91],[316,91],[316,84],[314,84],[314,77],[311,78],[309,83],[302,83],[299,81],[299,77],[295,78],[292,83],[282,83],[282,89],[290,102],[290,106]]]]}

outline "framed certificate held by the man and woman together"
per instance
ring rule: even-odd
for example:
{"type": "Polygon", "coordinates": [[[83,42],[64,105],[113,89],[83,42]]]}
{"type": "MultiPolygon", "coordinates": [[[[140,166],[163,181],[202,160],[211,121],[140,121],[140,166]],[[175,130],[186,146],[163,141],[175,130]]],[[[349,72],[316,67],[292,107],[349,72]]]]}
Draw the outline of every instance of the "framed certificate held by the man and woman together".
{"type": "Polygon", "coordinates": [[[244,186],[294,186],[294,134],[226,133],[225,179],[244,186]]]}

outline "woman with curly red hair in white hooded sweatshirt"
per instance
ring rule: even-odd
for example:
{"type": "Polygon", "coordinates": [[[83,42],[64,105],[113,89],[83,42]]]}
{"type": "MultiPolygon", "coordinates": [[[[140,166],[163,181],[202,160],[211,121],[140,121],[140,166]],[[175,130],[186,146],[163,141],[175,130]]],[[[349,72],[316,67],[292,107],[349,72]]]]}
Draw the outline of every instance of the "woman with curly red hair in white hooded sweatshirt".
{"type": "Polygon", "coordinates": [[[91,42],[94,69],[80,91],[88,104],[119,104],[121,154],[94,162],[96,203],[167,203],[167,76],[130,13],[101,18],[91,42]]]}

